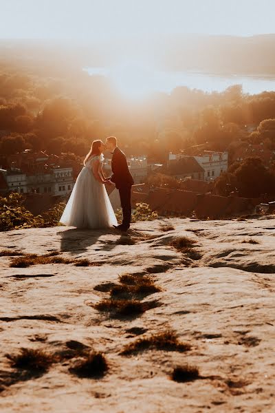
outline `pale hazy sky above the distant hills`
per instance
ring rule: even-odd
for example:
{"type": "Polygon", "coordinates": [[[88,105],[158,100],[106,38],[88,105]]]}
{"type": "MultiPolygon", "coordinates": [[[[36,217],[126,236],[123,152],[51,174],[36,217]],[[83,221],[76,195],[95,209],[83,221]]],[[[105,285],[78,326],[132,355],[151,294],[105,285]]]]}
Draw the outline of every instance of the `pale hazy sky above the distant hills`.
{"type": "Polygon", "coordinates": [[[0,38],[275,32],[275,0],[0,0],[0,38]]]}

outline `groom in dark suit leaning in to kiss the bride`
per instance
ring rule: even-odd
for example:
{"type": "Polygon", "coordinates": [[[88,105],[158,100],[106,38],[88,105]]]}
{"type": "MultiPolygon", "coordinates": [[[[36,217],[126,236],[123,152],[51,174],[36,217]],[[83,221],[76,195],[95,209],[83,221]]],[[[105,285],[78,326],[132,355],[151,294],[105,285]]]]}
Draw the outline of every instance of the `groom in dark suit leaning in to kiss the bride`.
{"type": "Polygon", "coordinates": [[[133,185],[133,176],[131,176],[129,171],[125,154],[117,146],[115,136],[109,136],[109,138],[106,139],[106,149],[113,154],[111,160],[113,175],[107,178],[107,180],[111,180],[120,192],[120,203],[123,213],[122,224],[115,228],[120,231],[127,231],[131,222],[131,188],[133,185]]]}

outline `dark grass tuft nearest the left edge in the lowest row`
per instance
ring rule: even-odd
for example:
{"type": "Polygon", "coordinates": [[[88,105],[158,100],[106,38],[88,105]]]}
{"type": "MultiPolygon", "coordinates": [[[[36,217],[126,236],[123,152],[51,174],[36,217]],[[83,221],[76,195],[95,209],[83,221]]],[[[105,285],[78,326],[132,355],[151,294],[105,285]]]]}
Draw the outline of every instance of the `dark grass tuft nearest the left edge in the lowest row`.
{"type": "Polygon", "coordinates": [[[6,354],[14,368],[45,372],[56,361],[52,354],[32,348],[21,348],[19,354],[6,354]]]}

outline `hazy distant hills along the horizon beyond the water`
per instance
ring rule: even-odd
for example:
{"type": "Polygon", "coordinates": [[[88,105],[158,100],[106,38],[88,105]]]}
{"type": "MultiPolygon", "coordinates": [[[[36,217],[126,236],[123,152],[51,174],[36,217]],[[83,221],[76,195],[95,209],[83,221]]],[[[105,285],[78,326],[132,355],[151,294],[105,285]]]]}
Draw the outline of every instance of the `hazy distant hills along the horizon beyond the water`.
{"type": "Polygon", "coordinates": [[[160,70],[275,76],[275,34],[251,37],[174,35],[120,39],[112,43],[0,40],[2,59],[73,67],[144,59],[160,70]]]}

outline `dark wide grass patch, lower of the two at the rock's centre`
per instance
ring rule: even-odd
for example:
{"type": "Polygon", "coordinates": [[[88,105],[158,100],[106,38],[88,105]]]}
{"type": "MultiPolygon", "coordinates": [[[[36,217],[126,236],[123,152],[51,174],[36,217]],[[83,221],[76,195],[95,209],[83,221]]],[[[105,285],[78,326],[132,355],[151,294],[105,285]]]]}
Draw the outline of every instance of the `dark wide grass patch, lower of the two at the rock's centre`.
{"type": "Polygon", "coordinates": [[[136,299],[102,299],[94,308],[104,313],[111,313],[113,317],[135,317],[146,310],[159,306],[157,301],[142,303],[136,299]]]}

